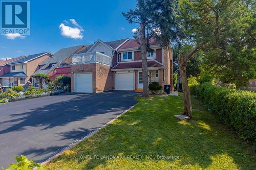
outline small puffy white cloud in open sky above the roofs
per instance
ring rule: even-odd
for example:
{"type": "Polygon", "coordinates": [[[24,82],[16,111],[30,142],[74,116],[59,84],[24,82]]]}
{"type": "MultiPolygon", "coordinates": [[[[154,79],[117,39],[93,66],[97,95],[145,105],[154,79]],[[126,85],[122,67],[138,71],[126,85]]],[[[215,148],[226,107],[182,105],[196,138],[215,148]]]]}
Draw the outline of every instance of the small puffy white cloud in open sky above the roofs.
{"type": "Polygon", "coordinates": [[[61,35],[65,36],[65,37],[73,38],[73,39],[82,39],[83,38],[82,32],[84,30],[82,29],[81,26],[78,25],[78,23],[75,21],[75,19],[70,19],[70,21],[76,27],[74,27],[74,28],[73,27],[69,27],[69,26],[66,26],[64,23],[61,23],[59,25],[59,29],[61,31],[61,35]]]}

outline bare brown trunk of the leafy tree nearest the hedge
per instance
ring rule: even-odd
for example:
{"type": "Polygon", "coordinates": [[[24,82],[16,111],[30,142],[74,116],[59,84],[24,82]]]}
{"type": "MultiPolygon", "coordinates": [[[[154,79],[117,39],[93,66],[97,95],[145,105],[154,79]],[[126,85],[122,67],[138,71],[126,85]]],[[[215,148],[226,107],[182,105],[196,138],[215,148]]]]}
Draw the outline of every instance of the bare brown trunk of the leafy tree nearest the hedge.
{"type": "Polygon", "coordinates": [[[186,65],[187,60],[184,61],[183,56],[179,54],[178,57],[179,61],[179,70],[180,70],[180,77],[182,82],[182,91],[184,97],[184,111],[183,114],[189,117],[192,117],[192,106],[191,106],[191,99],[190,99],[190,91],[188,88],[187,82],[187,74],[186,74],[186,65]]]}

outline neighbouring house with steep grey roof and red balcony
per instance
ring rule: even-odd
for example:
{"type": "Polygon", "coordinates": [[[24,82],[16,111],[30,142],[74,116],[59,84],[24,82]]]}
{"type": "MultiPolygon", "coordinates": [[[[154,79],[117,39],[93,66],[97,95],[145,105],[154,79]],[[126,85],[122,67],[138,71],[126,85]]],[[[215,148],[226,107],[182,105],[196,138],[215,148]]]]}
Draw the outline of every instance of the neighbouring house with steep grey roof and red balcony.
{"type": "Polygon", "coordinates": [[[39,69],[34,72],[35,74],[49,75],[51,80],[58,76],[71,75],[71,55],[83,49],[84,45],[72,46],[68,48],[61,48],[49,59],[42,61],[38,64],[39,69]]]}

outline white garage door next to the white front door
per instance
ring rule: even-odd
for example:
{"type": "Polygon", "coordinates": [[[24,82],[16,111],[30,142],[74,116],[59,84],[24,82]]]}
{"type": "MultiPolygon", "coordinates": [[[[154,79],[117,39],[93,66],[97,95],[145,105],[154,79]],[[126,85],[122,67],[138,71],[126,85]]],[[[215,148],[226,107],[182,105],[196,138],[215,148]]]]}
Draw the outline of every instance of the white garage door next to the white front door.
{"type": "Polygon", "coordinates": [[[115,90],[134,90],[133,72],[115,73],[115,90]]]}

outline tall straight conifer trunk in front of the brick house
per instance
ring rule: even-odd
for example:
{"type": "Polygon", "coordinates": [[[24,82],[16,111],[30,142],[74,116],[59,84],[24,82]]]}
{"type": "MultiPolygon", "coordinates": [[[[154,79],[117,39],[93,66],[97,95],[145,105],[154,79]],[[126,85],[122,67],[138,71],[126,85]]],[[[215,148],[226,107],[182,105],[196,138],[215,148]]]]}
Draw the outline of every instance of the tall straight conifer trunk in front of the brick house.
{"type": "Polygon", "coordinates": [[[146,36],[145,22],[140,24],[140,43],[141,43],[141,58],[142,58],[142,80],[143,80],[143,97],[148,98],[148,71],[146,58],[146,36]]]}

